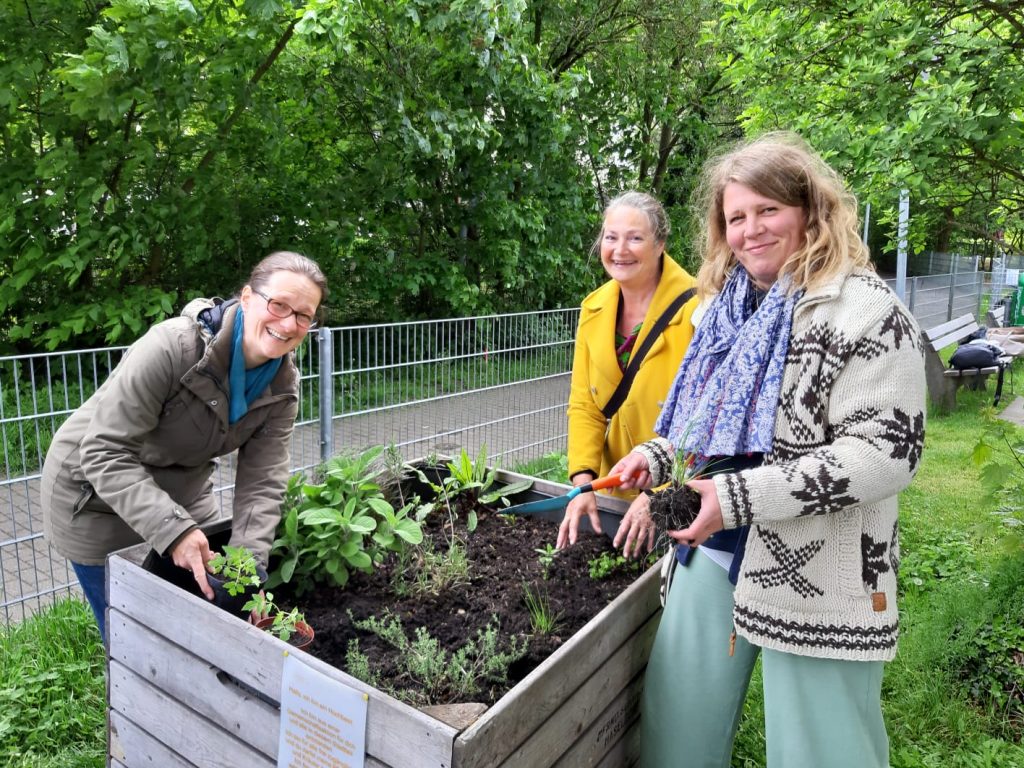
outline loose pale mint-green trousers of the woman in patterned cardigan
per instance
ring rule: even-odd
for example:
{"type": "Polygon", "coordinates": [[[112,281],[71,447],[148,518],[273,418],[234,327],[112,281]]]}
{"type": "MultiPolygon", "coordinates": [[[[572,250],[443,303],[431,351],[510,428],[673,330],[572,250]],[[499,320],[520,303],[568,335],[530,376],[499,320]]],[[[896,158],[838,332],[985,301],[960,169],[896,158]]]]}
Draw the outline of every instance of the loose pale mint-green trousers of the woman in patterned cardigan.
{"type": "MultiPolygon", "coordinates": [[[[676,569],[644,682],[643,768],[729,768],[760,648],[729,655],[732,585],[697,552],[676,569]]],[[[887,768],[882,662],[762,654],[768,768],[887,768]]]]}

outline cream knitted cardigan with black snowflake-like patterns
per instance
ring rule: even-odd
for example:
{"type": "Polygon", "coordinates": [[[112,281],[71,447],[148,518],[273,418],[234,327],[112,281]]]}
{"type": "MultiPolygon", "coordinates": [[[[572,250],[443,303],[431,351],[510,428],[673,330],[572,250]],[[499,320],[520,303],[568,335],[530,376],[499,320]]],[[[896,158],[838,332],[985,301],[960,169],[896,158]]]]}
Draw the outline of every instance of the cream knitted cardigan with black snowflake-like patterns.
{"type": "MultiPolygon", "coordinates": [[[[808,656],[896,652],[896,495],[925,440],[916,323],[878,275],[857,270],[794,311],[772,451],[717,475],[726,528],[750,525],[735,590],[737,634],[808,656]]],[[[664,438],[638,446],[669,480],[664,438]]]]}

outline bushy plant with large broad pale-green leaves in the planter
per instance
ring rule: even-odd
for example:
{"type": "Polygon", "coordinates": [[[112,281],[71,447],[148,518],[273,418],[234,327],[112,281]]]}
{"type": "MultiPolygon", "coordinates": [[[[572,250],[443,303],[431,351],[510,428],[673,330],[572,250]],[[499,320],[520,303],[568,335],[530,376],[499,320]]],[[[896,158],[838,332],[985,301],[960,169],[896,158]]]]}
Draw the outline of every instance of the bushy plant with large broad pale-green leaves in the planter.
{"type": "Polygon", "coordinates": [[[294,582],[298,594],[317,582],[344,587],[351,571],[370,572],[385,553],[423,541],[416,503],[396,510],[376,481],[383,450],[331,459],[319,483],[289,480],[267,587],[294,582]]]}

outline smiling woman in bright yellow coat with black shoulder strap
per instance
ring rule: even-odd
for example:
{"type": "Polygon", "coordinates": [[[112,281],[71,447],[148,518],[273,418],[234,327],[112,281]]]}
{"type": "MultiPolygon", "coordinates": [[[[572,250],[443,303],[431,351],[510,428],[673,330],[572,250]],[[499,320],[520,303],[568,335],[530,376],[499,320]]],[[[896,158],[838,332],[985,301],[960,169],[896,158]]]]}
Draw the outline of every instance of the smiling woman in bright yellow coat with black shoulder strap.
{"type": "MultiPolygon", "coordinates": [[[[674,313],[643,357],[626,399],[610,419],[605,418],[602,409],[622,381],[630,355],[640,349],[673,301],[695,285],[665,252],[669,230],[662,204],[643,193],[625,193],[604,211],[594,250],[600,252],[610,280],[583,301],[572,359],[568,471],[573,485],[603,476],[634,445],[654,436],[665,395],[693,336],[695,298],[674,313]]],[[[584,515],[595,530],[601,529],[593,493],[577,497],[566,508],[558,530],[559,548],[575,542],[584,515]]],[[[644,518],[630,516],[638,526],[644,518]]],[[[631,543],[639,545],[641,531],[632,532],[631,543]]],[[[643,538],[653,538],[652,528],[642,532],[643,538]]]]}

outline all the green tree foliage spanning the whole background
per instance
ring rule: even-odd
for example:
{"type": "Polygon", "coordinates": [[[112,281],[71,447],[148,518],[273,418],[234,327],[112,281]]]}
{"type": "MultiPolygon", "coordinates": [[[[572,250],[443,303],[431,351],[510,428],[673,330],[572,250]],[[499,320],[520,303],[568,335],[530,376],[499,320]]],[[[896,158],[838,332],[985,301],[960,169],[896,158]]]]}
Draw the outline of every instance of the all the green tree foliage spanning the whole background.
{"type": "Polygon", "coordinates": [[[914,242],[1021,248],[1020,3],[0,4],[0,350],[130,341],[270,250],[333,323],[575,305],[604,203],[794,128],[914,242]],[[737,116],[740,120],[737,121],[737,116]]]}

